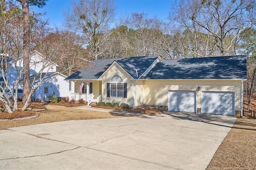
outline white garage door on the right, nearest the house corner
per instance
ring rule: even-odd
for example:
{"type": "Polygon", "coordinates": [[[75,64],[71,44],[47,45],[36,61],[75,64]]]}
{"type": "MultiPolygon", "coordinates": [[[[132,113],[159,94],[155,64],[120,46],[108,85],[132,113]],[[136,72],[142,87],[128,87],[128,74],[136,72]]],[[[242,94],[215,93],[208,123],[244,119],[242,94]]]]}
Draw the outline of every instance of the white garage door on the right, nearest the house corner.
{"type": "Polygon", "coordinates": [[[202,113],[234,115],[234,92],[202,91],[202,113]]]}

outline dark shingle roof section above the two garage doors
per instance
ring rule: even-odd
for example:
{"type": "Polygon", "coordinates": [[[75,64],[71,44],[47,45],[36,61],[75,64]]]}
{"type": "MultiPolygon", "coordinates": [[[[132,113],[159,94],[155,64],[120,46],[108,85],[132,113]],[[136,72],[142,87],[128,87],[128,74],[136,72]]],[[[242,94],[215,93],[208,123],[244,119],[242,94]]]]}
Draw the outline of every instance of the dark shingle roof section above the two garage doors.
{"type": "Polygon", "coordinates": [[[159,61],[144,79],[246,79],[246,55],[159,61]]]}

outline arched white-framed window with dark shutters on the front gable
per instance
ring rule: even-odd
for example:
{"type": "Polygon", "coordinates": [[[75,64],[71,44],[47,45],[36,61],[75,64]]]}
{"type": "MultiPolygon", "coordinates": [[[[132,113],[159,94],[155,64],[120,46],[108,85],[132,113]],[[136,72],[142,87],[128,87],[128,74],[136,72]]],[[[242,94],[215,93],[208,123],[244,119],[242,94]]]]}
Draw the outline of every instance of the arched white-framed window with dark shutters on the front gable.
{"type": "Polygon", "coordinates": [[[114,75],[107,83],[107,97],[123,97],[127,98],[127,83],[119,75],[114,75]]]}

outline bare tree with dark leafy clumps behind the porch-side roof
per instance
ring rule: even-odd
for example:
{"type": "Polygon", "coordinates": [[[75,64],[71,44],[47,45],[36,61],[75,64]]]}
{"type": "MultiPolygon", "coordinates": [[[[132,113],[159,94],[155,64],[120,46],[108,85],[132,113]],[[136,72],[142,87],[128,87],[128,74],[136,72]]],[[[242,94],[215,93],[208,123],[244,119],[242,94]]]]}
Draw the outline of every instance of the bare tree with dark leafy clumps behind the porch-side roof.
{"type": "Polygon", "coordinates": [[[84,44],[90,48],[90,55],[97,59],[112,32],[110,22],[115,15],[114,0],[79,0],[72,2],[72,12],[65,13],[65,25],[74,32],[84,34],[84,44]]]}

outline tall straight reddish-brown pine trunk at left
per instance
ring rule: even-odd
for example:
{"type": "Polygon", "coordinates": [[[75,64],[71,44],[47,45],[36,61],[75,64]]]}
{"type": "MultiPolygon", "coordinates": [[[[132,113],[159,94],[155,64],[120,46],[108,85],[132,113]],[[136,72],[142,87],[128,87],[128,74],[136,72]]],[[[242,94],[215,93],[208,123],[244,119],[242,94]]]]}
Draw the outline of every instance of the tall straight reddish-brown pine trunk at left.
{"type": "MultiPolygon", "coordinates": [[[[23,99],[22,102],[25,103],[28,95],[30,93],[30,73],[29,73],[29,63],[30,63],[30,20],[29,20],[29,7],[28,0],[22,0],[22,16],[24,22],[23,30],[23,99]]],[[[31,102],[31,99],[30,99],[31,102]]]]}

